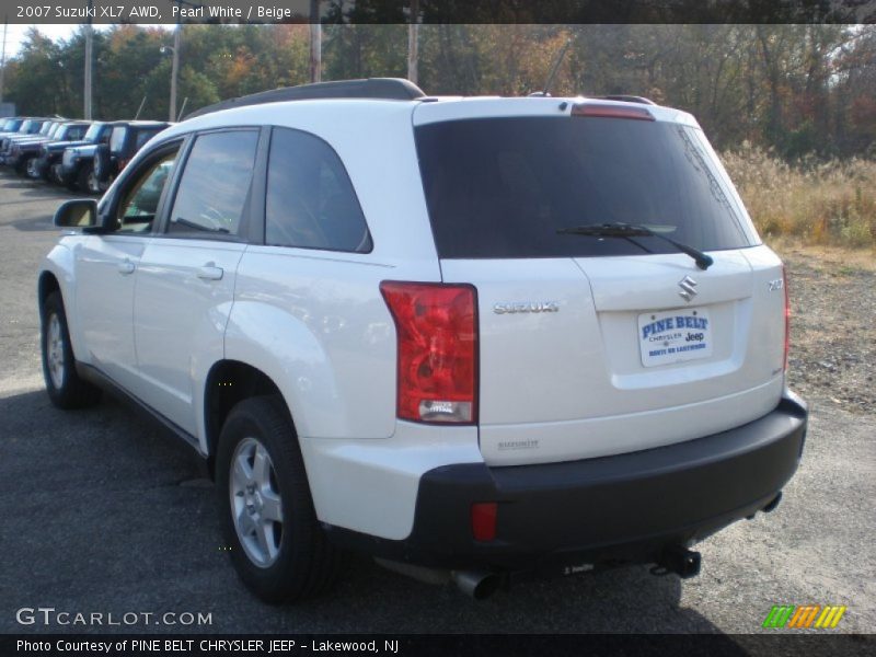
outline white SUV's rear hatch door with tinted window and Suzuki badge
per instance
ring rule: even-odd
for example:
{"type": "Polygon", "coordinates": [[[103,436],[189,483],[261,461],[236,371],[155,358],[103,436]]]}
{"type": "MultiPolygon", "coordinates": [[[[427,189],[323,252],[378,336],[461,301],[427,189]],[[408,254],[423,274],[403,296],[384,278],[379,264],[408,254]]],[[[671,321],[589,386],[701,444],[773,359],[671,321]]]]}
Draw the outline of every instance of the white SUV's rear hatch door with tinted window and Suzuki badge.
{"type": "Polygon", "coordinates": [[[477,288],[488,463],[647,449],[775,406],[781,264],[689,116],[575,116],[548,99],[449,105],[456,115],[418,108],[415,132],[443,280],[477,288]],[[613,222],[714,264],[654,237],[557,232],[613,222]]]}

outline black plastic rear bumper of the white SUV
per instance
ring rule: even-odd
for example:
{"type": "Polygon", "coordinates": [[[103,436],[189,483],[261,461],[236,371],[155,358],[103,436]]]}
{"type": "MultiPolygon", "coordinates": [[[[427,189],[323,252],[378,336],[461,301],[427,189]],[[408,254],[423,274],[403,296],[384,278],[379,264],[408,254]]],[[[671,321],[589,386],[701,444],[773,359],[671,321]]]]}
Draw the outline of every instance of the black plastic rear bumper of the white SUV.
{"type": "Polygon", "coordinates": [[[337,543],[424,566],[652,563],[769,505],[797,469],[807,416],[786,392],[754,422],[667,447],[565,463],[446,465],[420,479],[406,539],[324,527],[337,543]],[[479,502],[498,503],[494,541],[472,537],[479,502]]]}

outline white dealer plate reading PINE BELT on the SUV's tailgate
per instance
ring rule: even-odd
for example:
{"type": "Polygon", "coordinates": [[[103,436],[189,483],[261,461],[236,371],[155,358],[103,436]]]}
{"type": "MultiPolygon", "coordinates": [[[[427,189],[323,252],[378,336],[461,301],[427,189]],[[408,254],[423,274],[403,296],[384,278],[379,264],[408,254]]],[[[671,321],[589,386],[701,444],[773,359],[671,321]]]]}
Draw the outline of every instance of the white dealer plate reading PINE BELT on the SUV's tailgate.
{"type": "Polygon", "coordinates": [[[702,308],[680,308],[638,315],[642,365],[672,365],[712,355],[712,322],[702,308]]]}

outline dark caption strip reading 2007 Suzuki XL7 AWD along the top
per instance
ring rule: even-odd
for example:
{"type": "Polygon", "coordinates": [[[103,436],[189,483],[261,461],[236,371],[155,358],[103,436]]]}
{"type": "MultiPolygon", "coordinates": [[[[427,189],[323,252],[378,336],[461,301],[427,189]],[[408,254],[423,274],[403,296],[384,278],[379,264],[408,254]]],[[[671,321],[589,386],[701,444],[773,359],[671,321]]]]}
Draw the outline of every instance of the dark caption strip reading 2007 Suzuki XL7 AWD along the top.
{"type": "Polygon", "coordinates": [[[9,23],[873,23],[876,0],[0,0],[9,23]]]}

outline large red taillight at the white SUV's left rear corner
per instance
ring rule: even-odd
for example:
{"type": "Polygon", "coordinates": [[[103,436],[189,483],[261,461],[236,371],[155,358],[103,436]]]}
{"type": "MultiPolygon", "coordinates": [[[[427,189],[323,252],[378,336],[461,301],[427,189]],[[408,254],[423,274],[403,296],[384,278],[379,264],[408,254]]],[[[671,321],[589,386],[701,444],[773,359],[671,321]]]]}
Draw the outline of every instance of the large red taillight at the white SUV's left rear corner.
{"type": "Polygon", "coordinates": [[[395,321],[400,419],[477,422],[477,303],[470,285],[383,281],[395,321]]]}

